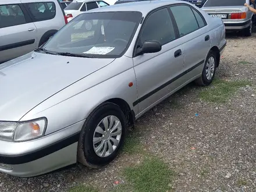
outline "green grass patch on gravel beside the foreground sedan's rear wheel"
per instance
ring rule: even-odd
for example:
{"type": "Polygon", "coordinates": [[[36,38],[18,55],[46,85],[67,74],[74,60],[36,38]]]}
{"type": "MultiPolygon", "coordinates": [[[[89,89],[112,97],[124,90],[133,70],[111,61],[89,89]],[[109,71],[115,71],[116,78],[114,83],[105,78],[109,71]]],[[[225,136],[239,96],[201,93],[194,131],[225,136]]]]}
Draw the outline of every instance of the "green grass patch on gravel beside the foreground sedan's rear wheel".
{"type": "Polygon", "coordinates": [[[212,86],[201,91],[200,97],[205,101],[224,103],[236,93],[240,87],[250,84],[250,81],[226,81],[216,79],[212,81],[212,86]]]}

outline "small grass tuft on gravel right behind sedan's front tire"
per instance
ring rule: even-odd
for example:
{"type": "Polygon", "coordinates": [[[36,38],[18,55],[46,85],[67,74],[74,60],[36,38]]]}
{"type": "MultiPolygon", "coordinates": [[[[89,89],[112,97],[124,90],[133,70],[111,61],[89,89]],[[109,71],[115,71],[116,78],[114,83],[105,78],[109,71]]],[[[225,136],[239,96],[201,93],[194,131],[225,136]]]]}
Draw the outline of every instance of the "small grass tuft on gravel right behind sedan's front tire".
{"type": "Polygon", "coordinates": [[[140,141],[138,139],[138,134],[132,132],[129,133],[125,139],[125,144],[123,146],[123,151],[126,154],[136,154],[138,152],[141,152],[141,146],[140,146],[140,141]]]}

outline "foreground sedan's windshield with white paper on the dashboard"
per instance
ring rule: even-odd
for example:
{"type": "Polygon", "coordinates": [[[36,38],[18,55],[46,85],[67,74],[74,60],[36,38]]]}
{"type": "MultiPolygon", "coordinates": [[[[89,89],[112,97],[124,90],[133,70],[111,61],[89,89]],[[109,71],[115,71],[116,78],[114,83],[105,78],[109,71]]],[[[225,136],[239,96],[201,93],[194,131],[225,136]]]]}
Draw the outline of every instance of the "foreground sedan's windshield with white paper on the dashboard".
{"type": "Polygon", "coordinates": [[[59,30],[42,49],[57,55],[118,58],[129,47],[141,16],[141,12],[126,11],[83,13],[59,30]]]}

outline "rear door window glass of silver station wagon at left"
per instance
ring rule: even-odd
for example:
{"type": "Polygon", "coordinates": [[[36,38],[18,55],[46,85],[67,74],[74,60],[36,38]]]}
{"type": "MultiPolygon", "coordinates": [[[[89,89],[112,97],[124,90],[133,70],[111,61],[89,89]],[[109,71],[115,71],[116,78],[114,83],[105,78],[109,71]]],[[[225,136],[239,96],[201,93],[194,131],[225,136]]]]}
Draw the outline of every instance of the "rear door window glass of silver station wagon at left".
{"type": "Polygon", "coordinates": [[[0,5],[0,29],[25,23],[26,19],[19,5],[0,5]]]}

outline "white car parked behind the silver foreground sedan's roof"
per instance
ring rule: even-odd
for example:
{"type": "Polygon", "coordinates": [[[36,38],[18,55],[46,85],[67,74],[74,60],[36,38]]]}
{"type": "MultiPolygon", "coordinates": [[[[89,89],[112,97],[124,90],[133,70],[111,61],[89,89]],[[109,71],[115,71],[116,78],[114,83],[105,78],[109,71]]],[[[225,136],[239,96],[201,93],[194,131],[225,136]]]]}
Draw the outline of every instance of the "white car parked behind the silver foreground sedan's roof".
{"type": "Polygon", "coordinates": [[[94,0],[78,0],[70,3],[65,9],[64,12],[67,17],[67,22],[74,19],[77,15],[86,12],[87,10],[101,8],[108,6],[109,4],[105,1],[94,1],[94,0]]]}

